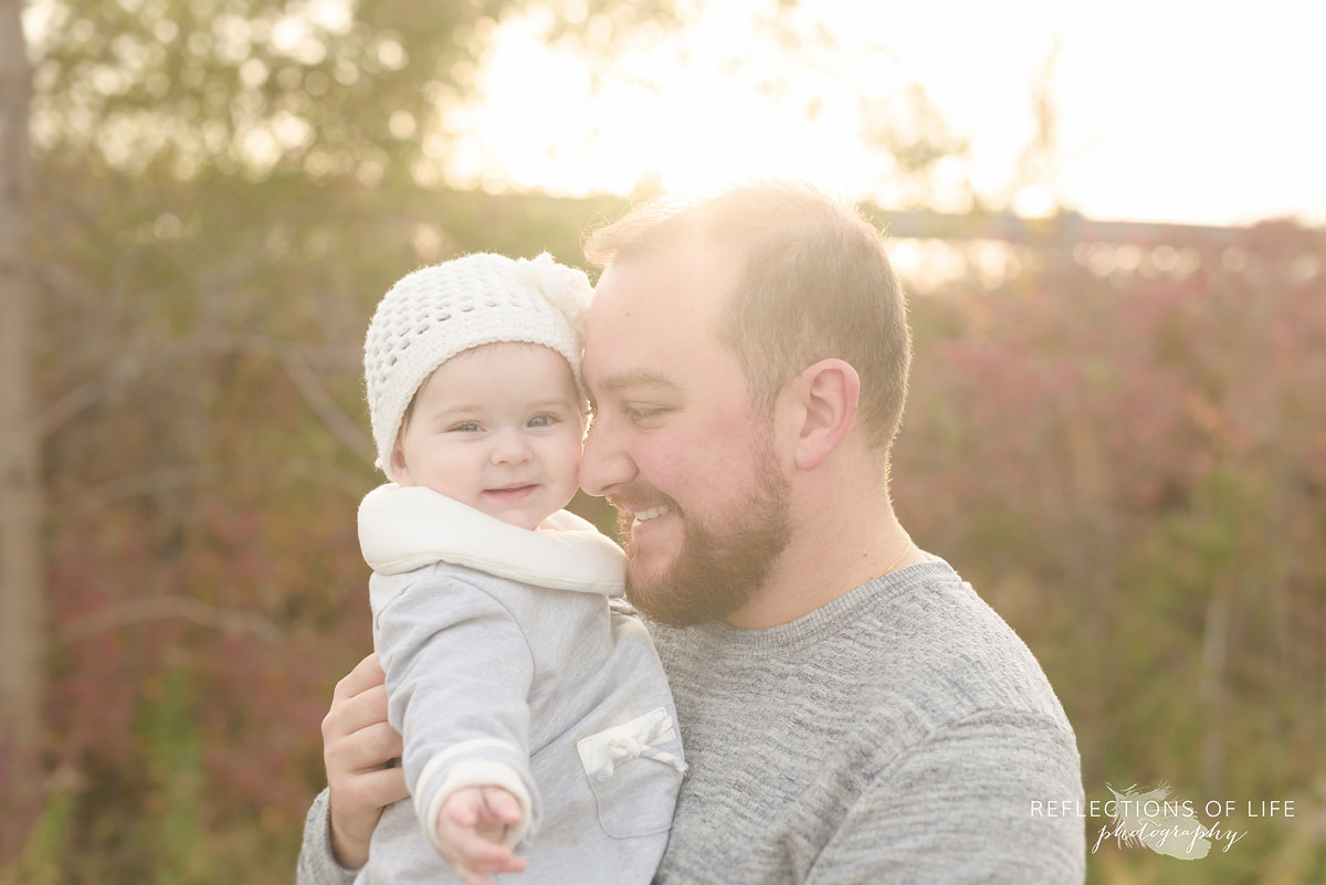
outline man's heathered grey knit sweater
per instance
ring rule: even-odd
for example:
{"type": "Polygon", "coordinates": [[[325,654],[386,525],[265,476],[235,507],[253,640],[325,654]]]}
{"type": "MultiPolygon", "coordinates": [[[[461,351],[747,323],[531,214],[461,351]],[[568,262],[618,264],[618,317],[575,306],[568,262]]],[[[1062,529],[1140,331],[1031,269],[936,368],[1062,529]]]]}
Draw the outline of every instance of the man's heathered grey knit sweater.
{"type": "MultiPolygon", "coordinates": [[[[1073,729],[1026,645],[941,560],[790,624],[654,628],[691,768],[660,885],[1081,882],[1073,729]]],[[[349,882],[309,813],[302,885],[349,882]]],[[[511,877],[518,882],[518,877],[511,877]]]]}

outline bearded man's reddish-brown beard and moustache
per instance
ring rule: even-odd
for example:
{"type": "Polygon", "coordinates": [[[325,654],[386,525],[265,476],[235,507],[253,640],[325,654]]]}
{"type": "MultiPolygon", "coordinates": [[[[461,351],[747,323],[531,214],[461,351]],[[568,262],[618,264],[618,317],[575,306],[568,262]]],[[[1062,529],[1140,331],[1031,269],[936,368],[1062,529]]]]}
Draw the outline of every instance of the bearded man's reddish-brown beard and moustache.
{"type": "Polygon", "coordinates": [[[758,590],[792,537],[788,481],[777,472],[772,453],[761,458],[760,481],[751,495],[735,507],[741,518],[721,521],[721,529],[686,515],[675,502],[668,506],[682,517],[682,550],[662,574],[633,574],[635,551],[631,523],[635,515],[617,513],[626,547],[626,599],[650,620],[670,627],[691,627],[725,620],[758,590]]]}

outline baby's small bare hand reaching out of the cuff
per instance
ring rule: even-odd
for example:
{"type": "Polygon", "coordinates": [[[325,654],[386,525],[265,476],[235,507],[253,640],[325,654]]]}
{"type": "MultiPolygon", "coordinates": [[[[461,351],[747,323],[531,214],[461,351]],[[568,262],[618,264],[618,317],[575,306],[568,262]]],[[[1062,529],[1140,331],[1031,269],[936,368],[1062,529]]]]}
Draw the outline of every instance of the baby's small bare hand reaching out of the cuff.
{"type": "Polygon", "coordinates": [[[501,787],[463,787],[438,815],[438,845],[465,885],[497,885],[483,873],[521,873],[525,860],[501,844],[520,823],[520,802],[501,787]]]}

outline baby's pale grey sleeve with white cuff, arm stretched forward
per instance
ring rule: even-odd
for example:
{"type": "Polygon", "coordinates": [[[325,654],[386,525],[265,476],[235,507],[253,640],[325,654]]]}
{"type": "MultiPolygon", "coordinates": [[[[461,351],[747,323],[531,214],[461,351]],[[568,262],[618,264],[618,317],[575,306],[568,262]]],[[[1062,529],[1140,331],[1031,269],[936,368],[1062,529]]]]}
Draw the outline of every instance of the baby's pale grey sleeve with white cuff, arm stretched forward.
{"type": "Polygon", "coordinates": [[[435,839],[451,794],[496,784],[524,812],[504,839],[513,848],[538,816],[529,772],[534,665],[516,619],[479,587],[430,570],[378,612],[374,639],[420,827],[435,839]]]}

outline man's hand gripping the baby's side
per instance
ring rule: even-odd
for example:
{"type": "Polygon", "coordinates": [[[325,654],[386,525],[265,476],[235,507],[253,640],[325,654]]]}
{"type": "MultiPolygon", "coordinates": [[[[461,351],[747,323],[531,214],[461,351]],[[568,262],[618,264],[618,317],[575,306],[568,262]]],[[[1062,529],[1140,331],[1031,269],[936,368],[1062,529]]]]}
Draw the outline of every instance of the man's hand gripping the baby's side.
{"type": "Polygon", "coordinates": [[[410,795],[404,771],[387,764],[402,753],[387,723],[386,674],[377,653],[337,682],[322,719],[322,762],[332,802],[332,853],[358,869],[369,861],[369,840],[383,807],[410,795]]]}

